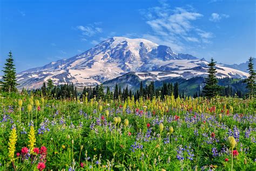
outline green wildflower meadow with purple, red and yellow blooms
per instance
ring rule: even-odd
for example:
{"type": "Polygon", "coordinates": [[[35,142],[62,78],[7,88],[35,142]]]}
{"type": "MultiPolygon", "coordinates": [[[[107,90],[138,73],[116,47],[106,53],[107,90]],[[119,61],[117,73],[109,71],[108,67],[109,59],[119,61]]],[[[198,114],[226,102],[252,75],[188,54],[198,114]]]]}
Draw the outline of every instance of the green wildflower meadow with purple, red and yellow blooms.
{"type": "Polygon", "coordinates": [[[0,170],[256,169],[254,99],[0,100],[0,170]]]}

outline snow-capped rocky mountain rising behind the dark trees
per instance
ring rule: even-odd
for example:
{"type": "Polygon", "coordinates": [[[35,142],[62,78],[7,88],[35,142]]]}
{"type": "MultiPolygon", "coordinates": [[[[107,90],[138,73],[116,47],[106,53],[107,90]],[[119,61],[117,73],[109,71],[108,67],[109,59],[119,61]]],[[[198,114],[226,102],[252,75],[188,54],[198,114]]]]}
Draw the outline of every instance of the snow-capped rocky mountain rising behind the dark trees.
{"type": "MultiPolygon", "coordinates": [[[[55,84],[95,86],[127,72],[164,79],[205,76],[207,61],[190,54],[174,53],[170,47],[146,39],[113,37],[69,59],[58,60],[17,75],[19,88],[38,88],[51,78],[55,84]],[[150,73],[147,74],[142,73],[150,73]]],[[[247,73],[217,65],[217,76],[246,78],[247,73]]]]}

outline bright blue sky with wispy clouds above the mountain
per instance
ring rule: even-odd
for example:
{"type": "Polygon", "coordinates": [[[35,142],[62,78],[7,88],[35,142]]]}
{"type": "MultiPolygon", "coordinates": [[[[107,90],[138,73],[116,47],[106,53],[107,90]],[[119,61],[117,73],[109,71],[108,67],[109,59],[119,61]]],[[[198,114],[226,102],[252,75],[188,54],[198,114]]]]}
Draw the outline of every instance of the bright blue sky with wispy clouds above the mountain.
{"type": "Polygon", "coordinates": [[[73,57],[113,36],[242,63],[256,54],[255,6],[249,0],[1,0],[0,68],[10,50],[20,72],[73,57]]]}

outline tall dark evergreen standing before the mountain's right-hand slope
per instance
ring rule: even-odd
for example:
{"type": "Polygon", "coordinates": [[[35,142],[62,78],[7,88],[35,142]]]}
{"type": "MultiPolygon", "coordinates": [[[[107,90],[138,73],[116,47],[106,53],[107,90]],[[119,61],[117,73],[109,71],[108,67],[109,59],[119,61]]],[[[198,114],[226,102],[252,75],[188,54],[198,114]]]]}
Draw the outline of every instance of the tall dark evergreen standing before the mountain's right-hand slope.
{"type": "Polygon", "coordinates": [[[221,90],[221,86],[218,85],[218,79],[215,76],[217,73],[215,69],[216,62],[211,59],[211,63],[208,64],[208,76],[205,78],[204,83],[206,84],[203,88],[203,94],[207,98],[213,98],[221,90]]]}

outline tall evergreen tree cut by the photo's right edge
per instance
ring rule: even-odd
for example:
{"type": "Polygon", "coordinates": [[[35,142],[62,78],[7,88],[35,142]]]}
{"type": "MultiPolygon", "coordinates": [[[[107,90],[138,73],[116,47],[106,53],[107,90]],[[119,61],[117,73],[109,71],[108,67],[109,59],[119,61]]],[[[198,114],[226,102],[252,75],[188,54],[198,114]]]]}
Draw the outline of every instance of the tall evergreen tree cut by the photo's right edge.
{"type": "Polygon", "coordinates": [[[249,90],[248,97],[250,99],[252,99],[252,97],[254,96],[255,88],[256,88],[256,84],[255,84],[256,72],[253,68],[253,62],[252,61],[253,61],[253,58],[250,57],[249,63],[248,63],[248,69],[247,69],[248,72],[249,72],[249,77],[244,80],[244,83],[247,84],[246,88],[249,90]]]}

